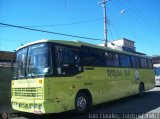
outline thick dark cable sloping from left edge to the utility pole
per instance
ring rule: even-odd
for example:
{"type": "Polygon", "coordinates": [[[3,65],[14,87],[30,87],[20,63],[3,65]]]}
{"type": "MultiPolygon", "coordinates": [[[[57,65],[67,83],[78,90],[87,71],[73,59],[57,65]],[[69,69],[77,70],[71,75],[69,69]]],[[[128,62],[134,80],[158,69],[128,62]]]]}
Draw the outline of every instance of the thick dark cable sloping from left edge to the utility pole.
{"type": "Polygon", "coordinates": [[[17,26],[17,25],[5,24],[5,23],[0,23],[0,25],[4,25],[4,26],[8,26],[8,27],[20,28],[20,29],[26,29],[26,30],[31,30],[31,31],[37,31],[37,32],[57,34],[57,35],[68,36],[68,37],[76,37],[76,38],[82,38],[82,39],[104,41],[104,40],[98,39],[98,38],[89,38],[89,37],[84,37],[84,36],[70,35],[70,34],[64,34],[64,33],[58,33],[58,32],[52,32],[52,31],[46,31],[46,30],[40,30],[40,29],[33,29],[33,28],[29,28],[29,27],[17,26]]]}

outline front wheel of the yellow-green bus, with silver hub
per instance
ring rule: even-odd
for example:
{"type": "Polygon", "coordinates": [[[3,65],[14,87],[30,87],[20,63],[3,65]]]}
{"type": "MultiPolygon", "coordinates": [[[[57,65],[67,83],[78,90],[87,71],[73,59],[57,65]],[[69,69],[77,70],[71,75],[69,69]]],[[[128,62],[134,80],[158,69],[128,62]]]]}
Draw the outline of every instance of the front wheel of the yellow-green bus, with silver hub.
{"type": "Polygon", "coordinates": [[[75,110],[77,113],[86,113],[89,111],[89,96],[85,92],[79,92],[75,99],[75,110]]]}

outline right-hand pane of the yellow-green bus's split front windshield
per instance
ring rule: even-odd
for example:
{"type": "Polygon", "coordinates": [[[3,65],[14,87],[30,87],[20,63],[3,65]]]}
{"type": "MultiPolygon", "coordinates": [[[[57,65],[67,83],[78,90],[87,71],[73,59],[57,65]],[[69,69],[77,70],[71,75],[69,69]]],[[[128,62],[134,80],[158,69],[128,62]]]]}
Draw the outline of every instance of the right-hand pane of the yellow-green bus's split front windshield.
{"type": "Polygon", "coordinates": [[[36,44],[29,47],[27,76],[48,75],[52,73],[48,44],[36,44]]]}

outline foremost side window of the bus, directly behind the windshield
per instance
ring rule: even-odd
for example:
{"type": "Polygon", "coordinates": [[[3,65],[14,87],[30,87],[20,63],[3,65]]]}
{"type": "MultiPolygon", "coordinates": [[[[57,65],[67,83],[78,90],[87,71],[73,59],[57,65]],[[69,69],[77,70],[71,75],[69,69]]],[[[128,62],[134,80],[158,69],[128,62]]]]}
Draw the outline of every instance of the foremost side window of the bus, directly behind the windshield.
{"type": "Polygon", "coordinates": [[[57,74],[71,76],[82,71],[79,50],[77,48],[61,47],[57,51],[57,74]]]}

